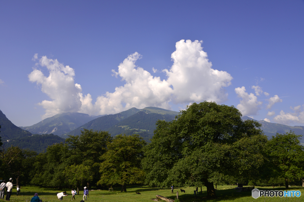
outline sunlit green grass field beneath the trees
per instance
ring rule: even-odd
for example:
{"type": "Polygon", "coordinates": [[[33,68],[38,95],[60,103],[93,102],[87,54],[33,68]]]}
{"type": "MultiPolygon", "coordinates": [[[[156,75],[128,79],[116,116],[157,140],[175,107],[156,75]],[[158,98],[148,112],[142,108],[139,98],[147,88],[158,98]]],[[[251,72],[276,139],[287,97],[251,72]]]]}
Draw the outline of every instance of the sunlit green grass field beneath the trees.
{"type": "MultiPolygon", "coordinates": [[[[259,197],[254,199],[251,197],[251,191],[246,192],[237,192],[234,189],[235,186],[217,186],[216,190],[217,199],[207,199],[206,197],[206,187],[202,187],[202,194],[197,194],[194,196],[194,187],[182,188],[185,190],[185,193],[180,192],[180,188],[174,189],[174,194],[171,194],[171,189],[157,189],[148,186],[129,186],[127,187],[127,192],[120,192],[120,188],[114,188],[114,192],[109,192],[109,190],[95,190],[89,191],[89,198],[87,202],[123,202],[123,201],[138,201],[138,202],[152,202],[152,198],[156,198],[156,195],[161,195],[171,199],[175,199],[176,191],[179,192],[179,199],[181,202],[200,202],[200,201],[238,201],[238,202],[260,202],[260,201],[303,201],[304,202],[304,187],[290,187],[289,190],[300,190],[300,197],[259,197]],[[141,194],[135,194],[135,192],[140,192],[141,194]]],[[[260,190],[285,190],[284,187],[256,187],[260,190]]],[[[71,201],[71,190],[55,190],[55,189],[46,189],[39,187],[22,187],[19,196],[16,196],[16,188],[13,189],[12,196],[10,201],[12,202],[29,202],[35,193],[38,193],[40,199],[43,202],[59,202],[57,199],[56,192],[67,191],[69,194],[66,197],[63,197],[62,201],[71,201]]],[[[200,191],[200,188],[199,188],[200,191]]],[[[76,195],[76,201],[80,202],[83,197],[83,191],[79,192],[79,195],[76,195]]]]}

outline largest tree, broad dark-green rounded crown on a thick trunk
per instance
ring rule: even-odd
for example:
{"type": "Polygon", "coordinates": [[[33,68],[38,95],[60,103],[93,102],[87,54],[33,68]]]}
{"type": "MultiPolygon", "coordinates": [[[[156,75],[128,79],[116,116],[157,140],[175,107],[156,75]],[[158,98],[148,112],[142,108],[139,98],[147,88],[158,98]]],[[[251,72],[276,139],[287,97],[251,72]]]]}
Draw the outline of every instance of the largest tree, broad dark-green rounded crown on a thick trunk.
{"type": "Polygon", "coordinates": [[[265,163],[267,138],[256,121],[242,121],[233,106],[193,103],[171,122],[158,121],[145,148],[146,183],[154,186],[206,186],[216,197],[219,176],[242,181],[265,163]]]}

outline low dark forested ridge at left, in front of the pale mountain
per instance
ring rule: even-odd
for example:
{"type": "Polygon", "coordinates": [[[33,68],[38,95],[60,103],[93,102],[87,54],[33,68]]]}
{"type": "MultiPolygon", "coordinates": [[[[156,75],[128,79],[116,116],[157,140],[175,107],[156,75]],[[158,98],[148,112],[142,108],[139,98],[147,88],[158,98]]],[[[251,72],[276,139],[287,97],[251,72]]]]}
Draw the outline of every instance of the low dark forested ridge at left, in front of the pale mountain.
{"type": "Polygon", "coordinates": [[[9,142],[4,142],[4,146],[6,148],[11,145],[18,146],[22,149],[30,149],[40,153],[42,151],[47,151],[48,146],[64,142],[64,140],[64,138],[53,134],[33,134],[33,136],[10,139],[9,142]]]}

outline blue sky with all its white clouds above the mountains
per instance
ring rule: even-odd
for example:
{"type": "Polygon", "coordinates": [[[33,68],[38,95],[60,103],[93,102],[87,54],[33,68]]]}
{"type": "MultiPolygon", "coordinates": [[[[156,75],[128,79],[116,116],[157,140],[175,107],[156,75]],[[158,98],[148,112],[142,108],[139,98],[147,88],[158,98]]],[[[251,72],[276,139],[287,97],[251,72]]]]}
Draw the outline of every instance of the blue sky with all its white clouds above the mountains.
{"type": "Polygon", "coordinates": [[[304,1],[0,1],[0,19],[17,126],[204,100],[304,125],[304,1]]]}

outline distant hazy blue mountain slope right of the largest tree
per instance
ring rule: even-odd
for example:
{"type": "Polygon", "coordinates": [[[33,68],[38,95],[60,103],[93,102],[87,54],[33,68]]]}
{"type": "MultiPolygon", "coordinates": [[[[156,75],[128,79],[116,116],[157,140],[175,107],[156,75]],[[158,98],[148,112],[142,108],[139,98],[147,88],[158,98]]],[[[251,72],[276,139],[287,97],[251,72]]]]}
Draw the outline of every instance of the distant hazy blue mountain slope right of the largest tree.
{"type": "MultiPolygon", "coordinates": [[[[243,120],[254,120],[250,117],[243,116],[243,120]]],[[[257,121],[257,120],[254,120],[257,121]]],[[[261,130],[263,130],[264,134],[270,139],[272,136],[275,136],[277,133],[287,133],[290,131],[294,131],[297,135],[303,135],[301,143],[304,144],[304,126],[287,126],[283,124],[270,123],[267,121],[257,121],[262,124],[261,130]]]]}

